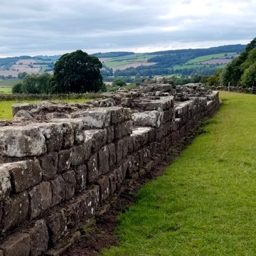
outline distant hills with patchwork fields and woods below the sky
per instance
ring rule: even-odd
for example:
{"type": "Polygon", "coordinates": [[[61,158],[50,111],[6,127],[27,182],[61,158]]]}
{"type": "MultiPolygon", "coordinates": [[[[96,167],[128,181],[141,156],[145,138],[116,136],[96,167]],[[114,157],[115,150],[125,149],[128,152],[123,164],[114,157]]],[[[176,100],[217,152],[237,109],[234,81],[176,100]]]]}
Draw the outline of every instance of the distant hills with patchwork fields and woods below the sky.
{"type": "MultiPolygon", "coordinates": [[[[154,75],[211,75],[245,50],[243,45],[199,49],[164,50],[154,53],[93,53],[103,64],[105,81],[117,77],[132,82],[134,78],[154,75]]],[[[18,73],[53,72],[60,55],[19,56],[0,58],[0,78],[16,78],[18,73]]]]}

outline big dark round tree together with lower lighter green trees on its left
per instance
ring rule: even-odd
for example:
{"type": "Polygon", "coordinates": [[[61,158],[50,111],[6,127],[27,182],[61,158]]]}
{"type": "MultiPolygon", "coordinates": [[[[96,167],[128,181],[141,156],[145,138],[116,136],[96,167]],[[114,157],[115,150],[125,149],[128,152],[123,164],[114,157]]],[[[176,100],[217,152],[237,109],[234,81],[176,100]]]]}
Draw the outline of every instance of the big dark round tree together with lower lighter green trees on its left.
{"type": "Polygon", "coordinates": [[[60,57],[54,65],[53,75],[26,75],[12,91],[32,94],[97,92],[104,90],[100,68],[102,63],[97,57],[76,50],[60,57]]]}

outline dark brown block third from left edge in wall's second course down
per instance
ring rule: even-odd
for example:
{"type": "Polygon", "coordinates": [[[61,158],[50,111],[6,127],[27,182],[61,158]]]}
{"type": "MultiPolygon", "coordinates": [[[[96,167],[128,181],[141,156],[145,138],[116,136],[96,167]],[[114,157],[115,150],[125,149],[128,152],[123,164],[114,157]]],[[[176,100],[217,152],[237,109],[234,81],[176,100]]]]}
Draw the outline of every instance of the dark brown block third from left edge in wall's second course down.
{"type": "Polygon", "coordinates": [[[56,152],[50,152],[42,156],[39,161],[43,179],[47,181],[54,178],[58,170],[58,154],[56,152]]]}

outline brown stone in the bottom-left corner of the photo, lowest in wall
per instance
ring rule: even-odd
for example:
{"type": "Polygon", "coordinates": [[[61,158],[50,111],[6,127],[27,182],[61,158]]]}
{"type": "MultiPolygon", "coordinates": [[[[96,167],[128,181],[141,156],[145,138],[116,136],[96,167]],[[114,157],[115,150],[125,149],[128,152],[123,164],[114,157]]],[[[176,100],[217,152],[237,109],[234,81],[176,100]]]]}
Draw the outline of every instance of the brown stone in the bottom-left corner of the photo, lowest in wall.
{"type": "Polygon", "coordinates": [[[26,233],[16,233],[6,238],[0,247],[4,256],[29,256],[30,237],[26,233]]]}

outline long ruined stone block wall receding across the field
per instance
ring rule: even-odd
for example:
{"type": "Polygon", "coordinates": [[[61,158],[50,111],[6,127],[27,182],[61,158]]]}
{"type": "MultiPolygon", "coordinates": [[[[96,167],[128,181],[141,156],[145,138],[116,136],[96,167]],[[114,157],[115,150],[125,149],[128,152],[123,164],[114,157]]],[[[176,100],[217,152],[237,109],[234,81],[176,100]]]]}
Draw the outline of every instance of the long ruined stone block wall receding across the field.
{"type": "Polygon", "coordinates": [[[84,104],[14,105],[0,122],[0,255],[53,255],[218,106],[217,91],[165,79],[84,104]]]}

